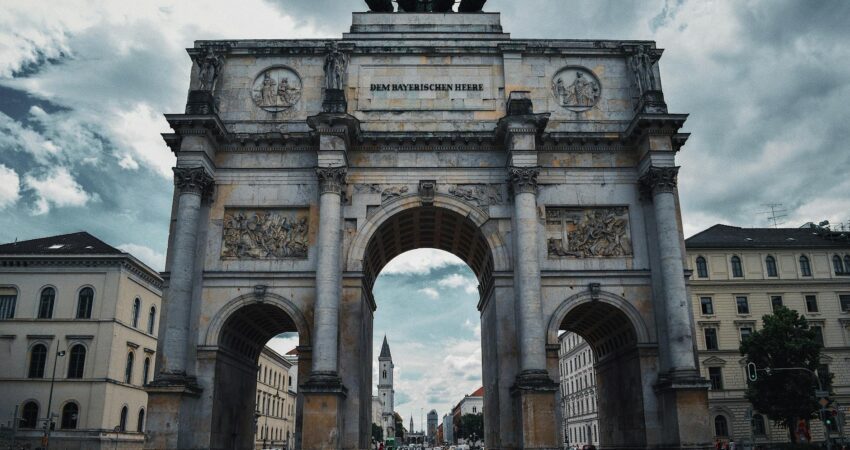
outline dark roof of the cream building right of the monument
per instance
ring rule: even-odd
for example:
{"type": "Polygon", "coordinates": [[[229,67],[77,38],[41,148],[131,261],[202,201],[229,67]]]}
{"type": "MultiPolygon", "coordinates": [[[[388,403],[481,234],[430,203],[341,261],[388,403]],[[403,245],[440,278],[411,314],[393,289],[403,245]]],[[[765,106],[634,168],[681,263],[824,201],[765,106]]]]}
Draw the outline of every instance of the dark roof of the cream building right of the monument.
{"type": "Polygon", "coordinates": [[[688,239],[696,248],[848,248],[850,232],[831,231],[814,224],[800,228],[741,228],[717,224],[688,239]]]}

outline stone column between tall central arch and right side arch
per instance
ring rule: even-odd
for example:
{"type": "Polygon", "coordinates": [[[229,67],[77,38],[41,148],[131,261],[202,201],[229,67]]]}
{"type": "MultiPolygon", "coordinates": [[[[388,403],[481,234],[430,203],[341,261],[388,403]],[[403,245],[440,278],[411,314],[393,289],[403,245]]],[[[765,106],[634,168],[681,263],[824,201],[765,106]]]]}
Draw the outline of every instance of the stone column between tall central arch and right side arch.
{"type": "Polygon", "coordinates": [[[540,261],[537,248],[537,168],[508,169],[514,192],[520,373],[546,372],[546,340],[540,299],[540,261]]]}

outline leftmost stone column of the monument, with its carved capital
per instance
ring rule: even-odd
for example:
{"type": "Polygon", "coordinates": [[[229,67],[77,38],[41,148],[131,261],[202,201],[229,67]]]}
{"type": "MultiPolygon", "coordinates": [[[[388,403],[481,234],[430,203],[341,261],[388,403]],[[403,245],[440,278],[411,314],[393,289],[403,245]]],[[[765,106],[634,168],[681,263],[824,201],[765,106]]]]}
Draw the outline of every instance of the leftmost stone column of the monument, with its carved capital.
{"type": "Polygon", "coordinates": [[[163,302],[168,320],[164,322],[160,344],[162,372],[167,374],[186,374],[198,224],[202,199],[212,186],[212,177],[201,167],[174,169],[177,216],[171,241],[171,273],[163,302]]]}

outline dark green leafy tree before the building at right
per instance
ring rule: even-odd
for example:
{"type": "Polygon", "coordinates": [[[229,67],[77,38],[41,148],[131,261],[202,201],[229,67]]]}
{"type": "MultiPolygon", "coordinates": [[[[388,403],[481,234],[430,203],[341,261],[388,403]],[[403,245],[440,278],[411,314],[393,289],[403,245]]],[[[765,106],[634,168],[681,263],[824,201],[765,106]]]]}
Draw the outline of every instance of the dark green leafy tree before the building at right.
{"type": "MultiPolygon", "coordinates": [[[[741,355],[758,368],[758,380],[747,386],[746,397],[753,408],[767,414],[775,423],[789,430],[797,442],[796,424],[800,419],[817,417],[817,382],[803,370],[775,371],[779,368],[804,368],[817,373],[821,344],[809,328],[805,317],[797,311],[778,307],[762,317],[764,328],[741,342],[741,355]]],[[[832,376],[822,380],[829,390],[832,376]]]]}

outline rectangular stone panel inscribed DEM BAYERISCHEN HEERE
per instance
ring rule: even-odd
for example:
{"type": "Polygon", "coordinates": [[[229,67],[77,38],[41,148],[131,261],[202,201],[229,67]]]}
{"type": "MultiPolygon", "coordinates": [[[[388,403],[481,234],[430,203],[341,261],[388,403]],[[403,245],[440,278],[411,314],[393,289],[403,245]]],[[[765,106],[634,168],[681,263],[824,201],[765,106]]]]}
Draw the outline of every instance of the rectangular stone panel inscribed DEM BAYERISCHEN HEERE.
{"type": "Polygon", "coordinates": [[[484,65],[362,66],[360,111],[495,111],[495,68],[484,65]]]}

